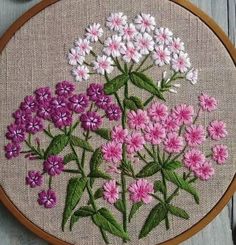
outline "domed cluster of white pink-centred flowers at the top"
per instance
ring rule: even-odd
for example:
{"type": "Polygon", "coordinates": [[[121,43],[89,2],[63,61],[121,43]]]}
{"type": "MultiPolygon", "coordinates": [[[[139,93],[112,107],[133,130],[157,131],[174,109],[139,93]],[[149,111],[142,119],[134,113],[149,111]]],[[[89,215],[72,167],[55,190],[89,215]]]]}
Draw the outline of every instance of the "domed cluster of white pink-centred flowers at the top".
{"type": "Polygon", "coordinates": [[[175,38],[168,28],[156,27],[156,21],[150,14],[141,13],[132,23],[127,22],[123,13],[112,13],[106,20],[106,27],[112,35],[101,40],[103,29],[99,23],[86,28],[84,39],[75,42],[68,59],[74,66],[72,74],[76,81],[87,80],[90,74],[109,74],[119,63],[144,62],[150,56],[153,65],[170,65],[175,73],[182,73],[192,84],[197,82],[198,72],[191,68],[190,59],[184,43],[175,38]],[[92,44],[102,45],[101,53],[93,52],[92,44]],[[86,62],[86,55],[91,54],[93,61],[86,62]],[[89,69],[91,68],[91,72],[89,69]]]}

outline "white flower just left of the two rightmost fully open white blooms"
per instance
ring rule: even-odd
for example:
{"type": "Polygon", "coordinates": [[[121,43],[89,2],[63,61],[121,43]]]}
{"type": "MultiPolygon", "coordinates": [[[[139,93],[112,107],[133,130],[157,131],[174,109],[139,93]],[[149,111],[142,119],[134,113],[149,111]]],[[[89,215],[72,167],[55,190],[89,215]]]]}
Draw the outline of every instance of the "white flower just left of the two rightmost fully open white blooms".
{"type": "Polygon", "coordinates": [[[163,66],[165,64],[170,64],[170,55],[170,50],[168,48],[164,48],[163,45],[160,45],[155,47],[152,54],[152,59],[154,60],[155,65],[163,66]]]}

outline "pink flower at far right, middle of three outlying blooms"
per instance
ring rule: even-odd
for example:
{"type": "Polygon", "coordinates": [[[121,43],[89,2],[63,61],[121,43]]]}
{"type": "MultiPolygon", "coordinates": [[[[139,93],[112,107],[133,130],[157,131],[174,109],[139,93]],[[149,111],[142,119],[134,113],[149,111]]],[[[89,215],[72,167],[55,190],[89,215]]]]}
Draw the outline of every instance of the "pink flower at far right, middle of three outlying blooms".
{"type": "Polygon", "coordinates": [[[226,125],[223,121],[212,121],[207,130],[213,140],[220,140],[228,135],[226,125]]]}

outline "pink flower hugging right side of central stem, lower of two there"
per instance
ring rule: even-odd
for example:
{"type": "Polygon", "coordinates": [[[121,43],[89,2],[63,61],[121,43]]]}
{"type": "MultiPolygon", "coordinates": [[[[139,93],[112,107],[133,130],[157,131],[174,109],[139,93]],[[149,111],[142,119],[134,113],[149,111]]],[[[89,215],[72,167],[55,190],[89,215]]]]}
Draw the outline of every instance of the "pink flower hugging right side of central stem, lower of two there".
{"type": "Polygon", "coordinates": [[[127,152],[129,154],[142,150],[144,144],[145,140],[139,132],[133,132],[126,137],[127,152]]]}

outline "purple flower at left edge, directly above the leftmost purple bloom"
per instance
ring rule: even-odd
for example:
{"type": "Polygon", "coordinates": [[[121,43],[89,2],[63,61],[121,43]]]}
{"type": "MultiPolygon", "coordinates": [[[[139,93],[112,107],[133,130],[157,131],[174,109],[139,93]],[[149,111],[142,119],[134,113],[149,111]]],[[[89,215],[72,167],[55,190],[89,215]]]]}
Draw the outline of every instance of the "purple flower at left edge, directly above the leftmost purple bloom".
{"type": "Polygon", "coordinates": [[[6,137],[14,143],[20,143],[25,140],[24,125],[11,124],[7,127],[6,137]]]}

